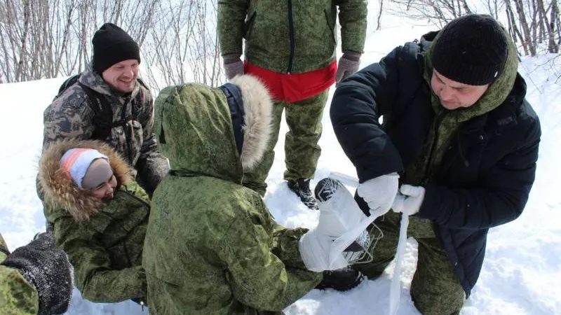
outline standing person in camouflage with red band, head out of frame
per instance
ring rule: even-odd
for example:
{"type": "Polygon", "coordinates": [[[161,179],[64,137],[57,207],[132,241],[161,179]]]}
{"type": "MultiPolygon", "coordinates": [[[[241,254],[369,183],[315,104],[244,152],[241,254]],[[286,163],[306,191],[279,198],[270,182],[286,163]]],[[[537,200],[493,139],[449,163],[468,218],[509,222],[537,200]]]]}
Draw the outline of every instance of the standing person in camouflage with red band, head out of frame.
{"type": "Polygon", "coordinates": [[[284,179],[311,209],[317,209],[309,180],[316,172],[323,108],[330,85],[358,70],[364,49],[364,0],[219,0],[218,37],[227,77],[249,73],[273,95],[273,133],[261,163],[244,185],[264,195],[285,111],[284,179]],[[337,64],[337,8],[343,55],[337,64]],[[245,38],[245,64],[241,61],[245,38]]]}

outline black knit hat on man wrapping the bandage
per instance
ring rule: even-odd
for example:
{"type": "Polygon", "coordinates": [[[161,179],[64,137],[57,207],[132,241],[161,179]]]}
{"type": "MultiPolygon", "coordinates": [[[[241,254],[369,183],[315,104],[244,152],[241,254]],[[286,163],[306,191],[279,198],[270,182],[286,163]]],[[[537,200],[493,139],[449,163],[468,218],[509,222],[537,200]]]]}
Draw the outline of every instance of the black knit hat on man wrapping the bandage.
{"type": "Polygon", "coordinates": [[[433,67],[450,80],[486,85],[501,76],[508,41],[490,15],[470,14],[452,20],[432,47],[433,67]]]}

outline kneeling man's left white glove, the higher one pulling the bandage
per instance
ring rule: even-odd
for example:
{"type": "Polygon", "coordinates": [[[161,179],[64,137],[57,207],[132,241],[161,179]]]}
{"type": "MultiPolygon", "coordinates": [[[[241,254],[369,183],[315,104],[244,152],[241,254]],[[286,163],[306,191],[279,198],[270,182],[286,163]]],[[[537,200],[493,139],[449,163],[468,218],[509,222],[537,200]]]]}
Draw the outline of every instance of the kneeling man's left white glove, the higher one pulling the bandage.
{"type": "Polygon", "coordinates": [[[379,210],[385,214],[398,194],[398,180],[397,173],[378,176],[358,185],[356,193],[367,202],[370,211],[379,210]]]}

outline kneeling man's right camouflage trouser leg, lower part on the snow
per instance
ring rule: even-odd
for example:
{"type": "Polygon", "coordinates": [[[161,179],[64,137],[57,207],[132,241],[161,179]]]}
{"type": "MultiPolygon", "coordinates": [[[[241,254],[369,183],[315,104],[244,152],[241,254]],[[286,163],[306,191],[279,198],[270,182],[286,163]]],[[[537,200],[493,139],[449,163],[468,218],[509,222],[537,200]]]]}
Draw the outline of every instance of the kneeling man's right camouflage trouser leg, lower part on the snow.
{"type": "Polygon", "coordinates": [[[415,307],[424,315],[456,315],[466,293],[446,251],[435,238],[419,238],[419,260],[411,283],[415,307]]]}

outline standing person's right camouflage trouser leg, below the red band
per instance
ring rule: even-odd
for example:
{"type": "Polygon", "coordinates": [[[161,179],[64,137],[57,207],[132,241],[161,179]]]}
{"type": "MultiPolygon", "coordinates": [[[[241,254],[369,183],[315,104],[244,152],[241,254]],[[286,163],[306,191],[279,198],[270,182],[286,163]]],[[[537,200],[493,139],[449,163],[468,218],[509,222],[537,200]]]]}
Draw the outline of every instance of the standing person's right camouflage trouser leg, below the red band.
{"type": "Polygon", "coordinates": [[[329,90],[309,99],[288,104],[286,123],[289,131],[285,138],[286,171],[284,179],[311,179],[316,172],[321,148],[321,118],[329,90]]]}

